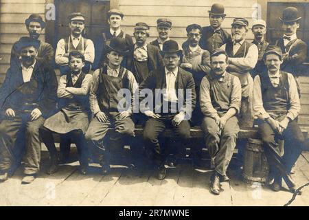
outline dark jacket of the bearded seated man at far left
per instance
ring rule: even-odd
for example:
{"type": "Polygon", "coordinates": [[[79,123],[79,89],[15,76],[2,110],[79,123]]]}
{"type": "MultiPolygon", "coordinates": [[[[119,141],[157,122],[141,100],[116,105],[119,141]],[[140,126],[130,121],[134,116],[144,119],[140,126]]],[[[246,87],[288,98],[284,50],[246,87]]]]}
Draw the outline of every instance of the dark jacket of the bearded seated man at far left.
{"type": "Polygon", "coordinates": [[[58,82],[50,65],[36,61],[29,82],[23,82],[21,65],[10,67],[0,89],[1,110],[40,109],[44,118],[56,111],[58,82]]]}

